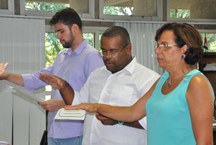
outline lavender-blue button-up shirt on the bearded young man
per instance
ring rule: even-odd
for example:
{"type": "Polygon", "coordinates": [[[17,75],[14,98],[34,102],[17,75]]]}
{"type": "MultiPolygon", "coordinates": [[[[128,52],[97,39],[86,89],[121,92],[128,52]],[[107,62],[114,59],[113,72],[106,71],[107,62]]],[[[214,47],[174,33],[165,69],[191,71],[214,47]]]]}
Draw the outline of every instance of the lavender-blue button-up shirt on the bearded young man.
{"type": "MultiPolygon", "coordinates": [[[[24,86],[28,90],[35,90],[47,85],[39,79],[39,73],[43,72],[63,78],[74,90],[79,91],[90,73],[103,65],[103,60],[98,51],[84,40],[74,51],[72,49],[61,51],[52,66],[37,73],[24,74],[24,86]]],[[[52,90],[51,98],[62,99],[58,90],[52,90]]],[[[49,112],[48,115],[48,137],[63,139],[83,134],[83,122],[56,121],[54,120],[56,112],[49,112]]]]}

